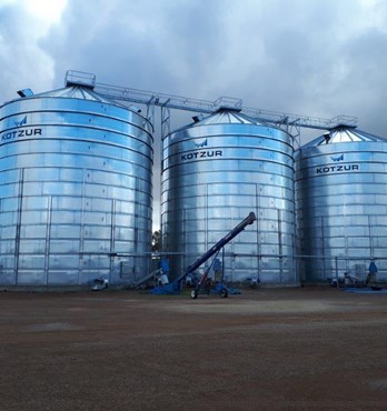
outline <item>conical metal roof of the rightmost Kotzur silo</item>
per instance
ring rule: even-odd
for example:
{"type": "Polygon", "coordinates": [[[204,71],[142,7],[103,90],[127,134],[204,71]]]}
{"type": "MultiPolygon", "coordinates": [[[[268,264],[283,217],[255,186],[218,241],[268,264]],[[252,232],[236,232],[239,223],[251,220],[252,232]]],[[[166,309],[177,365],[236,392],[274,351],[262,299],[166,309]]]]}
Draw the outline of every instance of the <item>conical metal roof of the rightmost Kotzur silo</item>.
{"type": "Polygon", "coordinates": [[[358,142],[358,141],[383,141],[386,142],[386,139],[370,134],[366,131],[361,131],[355,128],[340,127],[334,130],[330,130],[317,139],[308,142],[302,148],[335,144],[340,142],[358,142]]]}

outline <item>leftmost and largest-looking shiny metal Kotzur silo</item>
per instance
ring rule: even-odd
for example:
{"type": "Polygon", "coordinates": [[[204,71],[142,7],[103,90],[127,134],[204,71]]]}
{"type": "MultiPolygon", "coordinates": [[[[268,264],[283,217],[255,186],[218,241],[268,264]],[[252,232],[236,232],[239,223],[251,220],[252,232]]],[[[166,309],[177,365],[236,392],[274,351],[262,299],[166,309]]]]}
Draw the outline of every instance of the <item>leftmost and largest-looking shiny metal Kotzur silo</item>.
{"type": "Polygon", "coordinates": [[[148,272],[152,137],[136,109],[69,83],[4,103],[0,143],[1,285],[148,272]]]}

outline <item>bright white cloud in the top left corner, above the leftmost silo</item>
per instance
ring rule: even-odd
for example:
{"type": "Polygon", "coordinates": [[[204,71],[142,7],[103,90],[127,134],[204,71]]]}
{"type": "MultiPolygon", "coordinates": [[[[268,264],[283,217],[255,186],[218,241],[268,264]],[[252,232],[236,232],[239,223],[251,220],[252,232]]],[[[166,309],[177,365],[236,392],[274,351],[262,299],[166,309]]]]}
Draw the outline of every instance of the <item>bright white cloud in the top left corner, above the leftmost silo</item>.
{"type": "Polygon", "coordinates": [[[0,101],[31,88],[52,86],[53,61],[42,50],[41,39],[60,21],[66,0],[2,0],[0,2],[0,101]]]}

